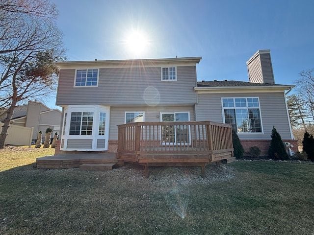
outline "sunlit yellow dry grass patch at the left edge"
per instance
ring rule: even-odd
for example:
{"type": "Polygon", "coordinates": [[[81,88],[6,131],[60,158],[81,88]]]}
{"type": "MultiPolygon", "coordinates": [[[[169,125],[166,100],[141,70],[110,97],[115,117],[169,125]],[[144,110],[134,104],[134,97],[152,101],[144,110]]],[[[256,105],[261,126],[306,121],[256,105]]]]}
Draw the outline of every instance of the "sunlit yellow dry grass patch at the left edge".
{"type": "Polygon", "coordinates": [[[6,146],[0,149],[0,171],[32,164],[38,157],[54,154],[54,148],[34,148],[34,146],[35,145],[32,145],[31,148],[27,146],[6,146]]]}

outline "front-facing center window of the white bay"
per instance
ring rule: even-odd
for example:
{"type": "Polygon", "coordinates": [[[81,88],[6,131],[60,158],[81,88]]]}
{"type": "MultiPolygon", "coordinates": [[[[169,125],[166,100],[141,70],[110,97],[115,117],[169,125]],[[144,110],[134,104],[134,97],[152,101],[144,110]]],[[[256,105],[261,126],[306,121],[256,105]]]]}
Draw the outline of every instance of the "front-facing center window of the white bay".
{"type": "Polygon", "coordinates": [[[69,135],[92,135],[94,112],[72,112],[69,135]]]}

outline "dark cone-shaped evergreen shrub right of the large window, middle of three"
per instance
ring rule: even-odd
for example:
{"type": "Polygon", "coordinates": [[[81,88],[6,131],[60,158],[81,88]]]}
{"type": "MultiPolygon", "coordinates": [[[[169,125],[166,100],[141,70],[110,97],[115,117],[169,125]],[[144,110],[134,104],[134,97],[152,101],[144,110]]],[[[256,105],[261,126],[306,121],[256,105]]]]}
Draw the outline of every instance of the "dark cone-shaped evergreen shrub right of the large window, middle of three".
{"type": "Polygon", "coordinates": [[[285,144],[275,127],[273,127],[271,131],[271,141],[268,149],[268,156],[273,159],[288,159],[285,144]]]}

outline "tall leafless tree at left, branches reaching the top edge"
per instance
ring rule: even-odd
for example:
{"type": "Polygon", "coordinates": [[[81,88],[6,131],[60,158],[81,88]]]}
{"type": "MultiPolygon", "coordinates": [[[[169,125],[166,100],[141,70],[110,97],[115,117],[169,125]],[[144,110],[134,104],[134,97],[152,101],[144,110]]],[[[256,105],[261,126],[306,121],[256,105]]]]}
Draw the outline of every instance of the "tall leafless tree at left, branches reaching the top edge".
{"type": "Polygon", "coordinates": [[[14,108],[55,90],[58,71],[54,61],[64,55],[62,33],[52,19],[55,14],[48,0],[0,0],[0,24],[5,26],[0,29],[0,108],[5,109],[0,148],[14,108]],[[13,29],[8,28],[12,25],[13,29]]]}

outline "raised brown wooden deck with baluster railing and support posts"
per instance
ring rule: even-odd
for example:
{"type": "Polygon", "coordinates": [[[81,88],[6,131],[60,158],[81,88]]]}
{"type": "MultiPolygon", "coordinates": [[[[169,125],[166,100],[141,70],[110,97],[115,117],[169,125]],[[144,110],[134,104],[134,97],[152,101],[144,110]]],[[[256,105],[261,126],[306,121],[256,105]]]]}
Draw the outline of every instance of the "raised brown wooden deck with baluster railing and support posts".
{"type": "Polygon", "coordinates": [[[118,161],[149,166],[205,165],[233,158],[232,130],[211,121],[136,122],[118,125],[118,161]]]}

